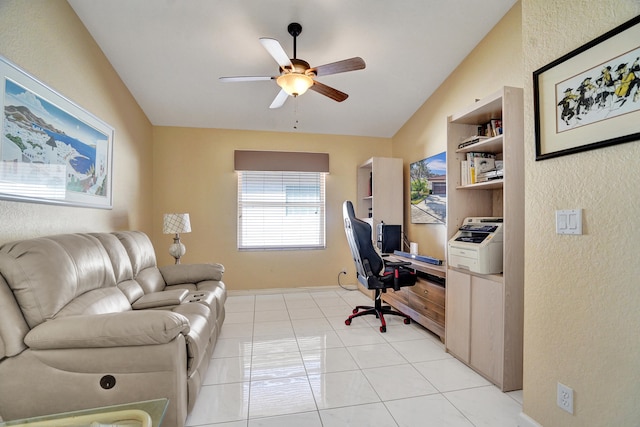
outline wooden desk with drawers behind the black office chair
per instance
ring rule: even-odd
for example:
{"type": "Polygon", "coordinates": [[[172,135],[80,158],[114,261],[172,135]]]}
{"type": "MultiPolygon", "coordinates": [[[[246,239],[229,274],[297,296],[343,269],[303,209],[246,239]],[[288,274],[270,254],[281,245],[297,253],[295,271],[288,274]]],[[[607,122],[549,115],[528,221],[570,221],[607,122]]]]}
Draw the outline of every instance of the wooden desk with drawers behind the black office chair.
{"type": "Polygon", "coordinates": [[[383,293],[382,300],[411,316],[412,320],[438,335],[444,342],[447,266],[429,264],[398,255],[389,255],[385,260],[411,262],[408,268],[418,274],[418,281],[414,286],[406,286],[400,291],[391,290],[383,293]]]}

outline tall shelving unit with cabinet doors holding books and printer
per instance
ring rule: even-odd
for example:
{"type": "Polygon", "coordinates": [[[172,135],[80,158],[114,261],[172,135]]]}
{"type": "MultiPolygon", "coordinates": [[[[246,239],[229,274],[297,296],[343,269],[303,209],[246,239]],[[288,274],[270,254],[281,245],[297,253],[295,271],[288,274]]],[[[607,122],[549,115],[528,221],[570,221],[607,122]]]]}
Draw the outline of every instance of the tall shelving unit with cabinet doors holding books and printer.
{"type": "Polygon", "coordinates": [[[446,348],[503,391],[522,388],[524,311],[524,113],[520,88],[504,87],[449,116],[447,239],[467,217],[503,217],[503,273],[447,269],[446,348]],[[479,125],[501,119],[503,133],[459,149],[479,125]],[[496,155],[504,178],[461,185],[468,152],[496,155]]]}

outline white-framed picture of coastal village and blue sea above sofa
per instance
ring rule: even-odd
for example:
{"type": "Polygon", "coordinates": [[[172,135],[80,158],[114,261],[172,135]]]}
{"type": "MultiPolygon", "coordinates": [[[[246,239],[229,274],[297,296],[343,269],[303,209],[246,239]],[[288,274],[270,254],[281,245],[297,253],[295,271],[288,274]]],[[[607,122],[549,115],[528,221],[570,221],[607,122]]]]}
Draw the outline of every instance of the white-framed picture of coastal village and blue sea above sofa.
{"type": "Polygon", "coordinates": [[[112,209],[114,129],[0,56],[0,199],[112,209]]]}

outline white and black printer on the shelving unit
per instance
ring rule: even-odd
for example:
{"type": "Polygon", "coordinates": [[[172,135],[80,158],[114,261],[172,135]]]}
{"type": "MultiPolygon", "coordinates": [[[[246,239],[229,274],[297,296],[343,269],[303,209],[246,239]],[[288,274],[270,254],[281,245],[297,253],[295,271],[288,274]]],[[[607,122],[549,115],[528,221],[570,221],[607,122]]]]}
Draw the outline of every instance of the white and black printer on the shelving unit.
{"type": "Polygon", "coordinates": [[[502,218],[465,218],[449,240],[447,263],[473,273],[502,273],[502,218]]]}

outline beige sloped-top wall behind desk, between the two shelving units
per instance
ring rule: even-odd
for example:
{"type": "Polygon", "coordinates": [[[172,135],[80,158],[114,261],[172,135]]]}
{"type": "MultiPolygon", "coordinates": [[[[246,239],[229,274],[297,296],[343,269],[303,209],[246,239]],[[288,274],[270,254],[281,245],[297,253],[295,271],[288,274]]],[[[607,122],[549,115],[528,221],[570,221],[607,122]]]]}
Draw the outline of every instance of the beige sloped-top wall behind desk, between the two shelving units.
{"type": "MultiPolygon", "coordinates": [[[[409,203],[409,164],[446,150],[447,116],[496,92],[502,86],[523,86],[520,3],[476,46],[393,137],[393,156],[404,159],[405,205],[409,203]]],[[[420,253],[445,258],[446,228],[436,224],[411,224],[404,211],[409,240],[420,253]]]]}

